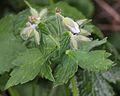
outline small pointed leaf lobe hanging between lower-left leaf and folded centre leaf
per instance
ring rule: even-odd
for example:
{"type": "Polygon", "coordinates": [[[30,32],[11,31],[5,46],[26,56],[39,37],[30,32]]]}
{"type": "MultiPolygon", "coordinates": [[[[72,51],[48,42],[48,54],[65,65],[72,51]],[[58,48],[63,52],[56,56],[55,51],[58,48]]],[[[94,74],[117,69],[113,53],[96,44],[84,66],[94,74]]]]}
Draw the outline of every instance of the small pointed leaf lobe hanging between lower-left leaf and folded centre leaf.
{"type": "Polygon", "coordinates": [[[50,81],[55,81],[54,77],[52,75],[52,69],[50,65],[43,64],[40,68],[40,76],[45,77],[46,79],[49,79],[50,81]]]}

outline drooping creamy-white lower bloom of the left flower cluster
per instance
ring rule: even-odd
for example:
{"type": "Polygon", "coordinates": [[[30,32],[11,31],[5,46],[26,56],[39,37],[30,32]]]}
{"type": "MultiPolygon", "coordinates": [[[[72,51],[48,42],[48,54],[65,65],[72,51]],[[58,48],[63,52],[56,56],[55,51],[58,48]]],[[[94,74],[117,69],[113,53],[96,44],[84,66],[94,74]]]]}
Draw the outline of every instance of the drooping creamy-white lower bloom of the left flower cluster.
{"type": "Polygon", "coordinates": [[[39,32],[36,30],[36,24],[27,23],[27,26],[21,31],[20,36],[23,40],[34,37],[36,44],[40,45],[39,32]]]}

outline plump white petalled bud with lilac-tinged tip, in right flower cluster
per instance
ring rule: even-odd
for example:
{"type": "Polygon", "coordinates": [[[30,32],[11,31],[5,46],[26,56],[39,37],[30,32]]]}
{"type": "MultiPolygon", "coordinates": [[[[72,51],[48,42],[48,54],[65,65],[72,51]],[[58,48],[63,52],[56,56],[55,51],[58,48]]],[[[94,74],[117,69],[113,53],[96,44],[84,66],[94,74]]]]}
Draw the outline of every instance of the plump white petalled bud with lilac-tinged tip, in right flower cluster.
{"type": "Polygon", "coordinates": [[[63,24],[72,32],[72,33],[79,33],[80,29],[79,29],[79,25],[73,21],[71,18],[69,17],[64,17],[63,18],[63,24]]]}

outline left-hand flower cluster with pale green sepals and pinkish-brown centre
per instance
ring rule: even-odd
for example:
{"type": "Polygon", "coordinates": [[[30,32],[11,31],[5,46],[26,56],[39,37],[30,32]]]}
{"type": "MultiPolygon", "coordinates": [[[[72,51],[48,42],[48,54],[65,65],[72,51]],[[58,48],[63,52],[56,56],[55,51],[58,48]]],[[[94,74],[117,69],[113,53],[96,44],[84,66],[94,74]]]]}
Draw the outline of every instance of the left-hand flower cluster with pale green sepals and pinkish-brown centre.
{"type": "Polygon", "coordinates": [[[38,24],[46,18],[47,9],[43,9],[40,13],[37,12],[34,8],[30,7],[30,12],[32,16],[28,17],[28,22],[26,26],[20,33],[20,36],[23,40],[34,39],[37,45],[40,45],[40,35],[37,31],[38,24]]]}

